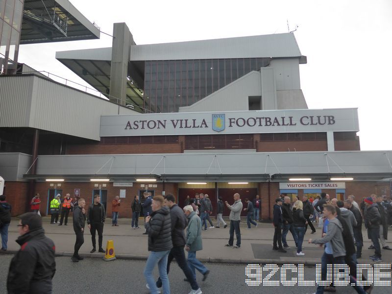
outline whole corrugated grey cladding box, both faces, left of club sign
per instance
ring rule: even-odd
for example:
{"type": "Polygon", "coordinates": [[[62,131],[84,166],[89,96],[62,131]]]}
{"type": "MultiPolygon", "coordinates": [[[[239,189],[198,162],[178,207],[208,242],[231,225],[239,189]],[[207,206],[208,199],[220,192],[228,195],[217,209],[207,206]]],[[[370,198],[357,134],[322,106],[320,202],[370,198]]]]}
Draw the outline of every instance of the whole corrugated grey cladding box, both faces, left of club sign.
{"type": "Polygon", "coordinates": [[[38,76],[0,77],[0,126],[25,126],[100,140],[101,115],[137,114],[38,76]]]}

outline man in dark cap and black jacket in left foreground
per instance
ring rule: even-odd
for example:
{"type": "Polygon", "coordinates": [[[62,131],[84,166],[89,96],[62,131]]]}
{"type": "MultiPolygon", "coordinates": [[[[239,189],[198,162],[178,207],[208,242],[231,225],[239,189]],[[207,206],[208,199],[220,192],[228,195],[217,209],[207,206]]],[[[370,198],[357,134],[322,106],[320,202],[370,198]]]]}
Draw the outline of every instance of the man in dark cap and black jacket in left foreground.
{"type": "Polygon", "coordinates": [[[51,294],[56,272],[54,243],[45,236],[41,217],[28,212],[19,217],[21,249],[11,260],[7,278],[8,294],[51,294]]]}

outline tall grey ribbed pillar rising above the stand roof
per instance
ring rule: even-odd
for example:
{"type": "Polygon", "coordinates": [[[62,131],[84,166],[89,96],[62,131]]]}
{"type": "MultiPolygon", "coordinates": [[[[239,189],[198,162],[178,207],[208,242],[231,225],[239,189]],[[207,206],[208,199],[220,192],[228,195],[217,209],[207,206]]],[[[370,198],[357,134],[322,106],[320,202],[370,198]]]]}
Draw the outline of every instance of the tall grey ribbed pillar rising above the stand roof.
{"type": "Polygon", "coordinates": [[[113,25],[112,63],[110,69],[110,101],[125,105],[126,77],[133,36],[125,23],[113,25]]]}

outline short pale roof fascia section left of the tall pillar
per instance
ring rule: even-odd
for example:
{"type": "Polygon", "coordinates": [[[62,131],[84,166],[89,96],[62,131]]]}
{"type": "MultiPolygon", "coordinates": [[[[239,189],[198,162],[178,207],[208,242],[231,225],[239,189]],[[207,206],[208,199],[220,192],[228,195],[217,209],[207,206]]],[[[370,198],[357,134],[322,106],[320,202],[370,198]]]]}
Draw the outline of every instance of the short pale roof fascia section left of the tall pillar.
{"type": "Polygon", "coordinates": [[[112,48],[82,49],[56,52],[56,59],[112,60],[112,48]]]}

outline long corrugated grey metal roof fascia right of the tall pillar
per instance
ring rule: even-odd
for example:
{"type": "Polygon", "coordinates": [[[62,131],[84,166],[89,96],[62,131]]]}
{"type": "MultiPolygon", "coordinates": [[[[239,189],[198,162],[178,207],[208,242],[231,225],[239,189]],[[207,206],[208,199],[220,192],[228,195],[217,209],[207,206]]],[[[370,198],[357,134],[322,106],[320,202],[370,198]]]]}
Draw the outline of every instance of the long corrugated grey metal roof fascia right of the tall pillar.
{"type": "Polygon", "coordinates": [[[293,33],[134,45],[130,60],[299,57],[293,33]]]}

